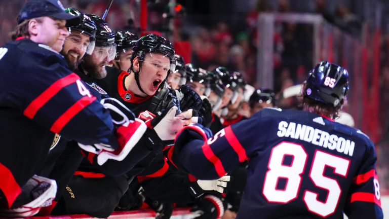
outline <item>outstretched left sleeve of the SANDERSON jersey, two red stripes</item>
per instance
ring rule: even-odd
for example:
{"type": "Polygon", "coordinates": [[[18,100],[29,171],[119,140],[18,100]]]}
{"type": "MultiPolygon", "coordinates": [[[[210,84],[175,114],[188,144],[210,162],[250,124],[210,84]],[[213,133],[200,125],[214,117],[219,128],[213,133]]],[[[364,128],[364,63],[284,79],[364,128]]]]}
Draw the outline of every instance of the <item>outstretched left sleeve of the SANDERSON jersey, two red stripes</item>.
{"type": "Polygon", "coordinates": [[[216,179],[264,146],[265,121],[258,113],[207,138],[198,126],[186,126],[176,137],[173,163],[199,179],[216,179]]]}

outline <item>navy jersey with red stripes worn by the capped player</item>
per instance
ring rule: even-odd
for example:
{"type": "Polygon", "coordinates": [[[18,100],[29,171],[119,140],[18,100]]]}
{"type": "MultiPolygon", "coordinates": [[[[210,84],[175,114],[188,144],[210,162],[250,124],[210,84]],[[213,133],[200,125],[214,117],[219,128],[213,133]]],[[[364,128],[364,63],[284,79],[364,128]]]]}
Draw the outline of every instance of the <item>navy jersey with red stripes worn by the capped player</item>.
{"type": "Polygon", "coordinates": [[[113,144],[109,112],[48,46],[28,39],[7,43],[0,48],[0,75],[0,189],[9,206],[41,169],[55,133],[83,144],[113,144]]]}

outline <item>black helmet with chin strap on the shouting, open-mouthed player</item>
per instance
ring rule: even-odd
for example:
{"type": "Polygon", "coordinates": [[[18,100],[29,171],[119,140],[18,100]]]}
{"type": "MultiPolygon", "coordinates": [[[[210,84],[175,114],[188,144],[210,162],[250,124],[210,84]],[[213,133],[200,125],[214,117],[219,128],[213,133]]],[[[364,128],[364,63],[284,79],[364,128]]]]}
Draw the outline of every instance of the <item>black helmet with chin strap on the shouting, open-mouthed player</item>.
{"type": "Polygon", "coordinates": [[[134,72],[135,81],[138,85],[138,88],[141,92],[144,93],[143,89],[140,87],[139,83],[139,71],[134,70],[133,60],[135,58],[139,59],[139,66],[141,67],[141,62],[144,61],[144,57],[146,53],[161,53],[169,58],[170,60],[170,69],[165,80],[161,83],[160,88],[162,88],[165,84],[166,79],[169,77],[170,71],[175,69],[175,51],[173,45],[169,40],[163,38],[162,36],[155,35],[154,33],[149,33],[145,36],[142,36],[137,42],[134,48],[132,49],[132,57],[131,57],[131,67],[130,69],[134,72]]]}

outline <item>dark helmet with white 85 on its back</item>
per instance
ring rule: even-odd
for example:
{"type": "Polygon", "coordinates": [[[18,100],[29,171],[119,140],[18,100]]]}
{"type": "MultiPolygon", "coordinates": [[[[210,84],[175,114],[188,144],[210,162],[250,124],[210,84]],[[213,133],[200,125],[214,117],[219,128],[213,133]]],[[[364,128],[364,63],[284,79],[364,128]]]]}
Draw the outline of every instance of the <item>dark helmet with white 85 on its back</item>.
{"type": "Polygon", "coordinates": [[[304,98],[338,106],[348,92],[348,72],[345,68],[322,61],[309,71],[303,90],[304,98]]]}

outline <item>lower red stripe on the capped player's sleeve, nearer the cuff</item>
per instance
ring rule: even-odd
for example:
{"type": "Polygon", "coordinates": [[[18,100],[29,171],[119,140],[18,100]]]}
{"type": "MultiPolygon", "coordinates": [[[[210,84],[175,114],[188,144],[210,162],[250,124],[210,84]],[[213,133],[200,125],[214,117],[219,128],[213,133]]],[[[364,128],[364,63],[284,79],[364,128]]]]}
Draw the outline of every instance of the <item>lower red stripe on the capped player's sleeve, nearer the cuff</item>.
{"type": "Polygon", "coordinates": [[[62,128],[73,118],[77,113],[79,113],[85,106],[91,104],[96,100],[95,96],[89,97],[85,96],[75,102],[70,108],[68,108],[65,113],[63,113],[51,126],[50,131],[54,133],[59,133],[62,128]]]}

